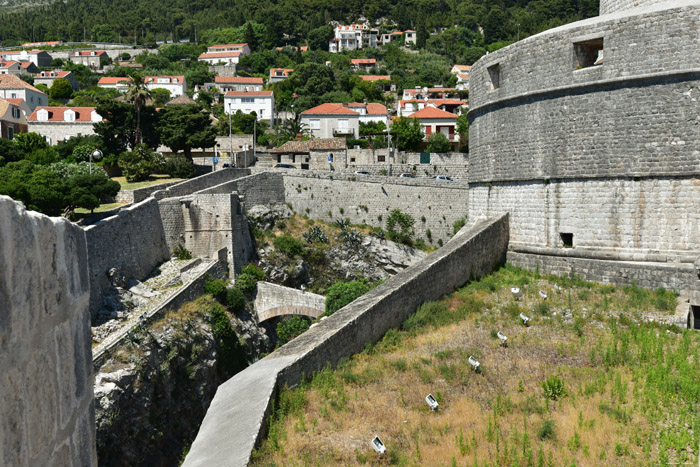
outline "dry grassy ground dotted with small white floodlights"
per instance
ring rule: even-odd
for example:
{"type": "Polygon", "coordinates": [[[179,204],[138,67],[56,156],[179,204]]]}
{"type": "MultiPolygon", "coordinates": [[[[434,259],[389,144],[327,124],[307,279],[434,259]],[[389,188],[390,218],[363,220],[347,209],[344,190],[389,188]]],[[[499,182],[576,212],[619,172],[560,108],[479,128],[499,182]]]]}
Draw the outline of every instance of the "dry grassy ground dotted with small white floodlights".
{"type": "Polygon", "coordinates": [[[337,369],[281,391],[253,464],[696,463],[700,334],[658,324],[675,306],[663,289],[505,266],[423,305],[337,369]],[[370,446],[375,435],[383,456],[370,446]]]}

